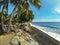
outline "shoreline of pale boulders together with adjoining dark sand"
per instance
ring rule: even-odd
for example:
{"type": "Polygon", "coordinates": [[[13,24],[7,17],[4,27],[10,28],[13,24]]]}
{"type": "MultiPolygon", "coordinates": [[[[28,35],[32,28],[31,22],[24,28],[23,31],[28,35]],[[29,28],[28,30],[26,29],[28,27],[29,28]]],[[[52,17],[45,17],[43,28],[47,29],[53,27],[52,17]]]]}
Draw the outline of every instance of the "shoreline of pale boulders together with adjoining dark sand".
{"type": "MultiPolygon", "coordinates": [[[[15,36],[9,41],[3,38],[3,40],[9,43],[1,45],[60,45],[60,42],[45,34],[44,32],[38,30],[35,27],[31,27],[30,32],[26,32],[22,29],[17,29],[15,36]]],[[[1,37],[1,36],[0,36],[1,37]]],[[[1,39],[0,39],[1,40],[1,39]]],[[[1,41],[0,41],[1,42],[1,41]]],[[[3,41],[4,43],[4,41],[3,41]]]]}

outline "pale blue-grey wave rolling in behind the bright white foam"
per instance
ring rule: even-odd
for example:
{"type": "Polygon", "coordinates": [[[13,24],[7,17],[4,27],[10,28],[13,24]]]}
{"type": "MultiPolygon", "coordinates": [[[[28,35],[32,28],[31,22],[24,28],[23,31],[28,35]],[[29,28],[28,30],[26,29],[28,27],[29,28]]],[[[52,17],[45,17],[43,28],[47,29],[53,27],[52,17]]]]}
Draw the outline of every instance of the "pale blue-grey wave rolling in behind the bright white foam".
{"type": "Polygon", "coordinates": [[[57,28],[56,26],[53,27],[53,26],[48,26],[48,25],[37,25],[37,24],[34,24],[34,25],[41,27],[42,30],[45,30],[47,32],[60,34],[60,28],[57,28]]]}

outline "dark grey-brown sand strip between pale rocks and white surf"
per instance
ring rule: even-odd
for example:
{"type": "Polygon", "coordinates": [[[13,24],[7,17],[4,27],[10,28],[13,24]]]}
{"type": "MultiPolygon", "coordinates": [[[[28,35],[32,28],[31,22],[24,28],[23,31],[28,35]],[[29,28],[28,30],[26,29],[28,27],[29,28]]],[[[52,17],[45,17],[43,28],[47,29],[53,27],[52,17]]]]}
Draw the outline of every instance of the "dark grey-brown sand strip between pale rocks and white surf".
{"type": "Polygon", "coordinates": [[[39,43],[39,45],[60,45],[59,41],[46,34],[44,31],[41,31],[40,28],[38,29],[32,24],[31,26],[31,37],[34,38],[39,43]]]}

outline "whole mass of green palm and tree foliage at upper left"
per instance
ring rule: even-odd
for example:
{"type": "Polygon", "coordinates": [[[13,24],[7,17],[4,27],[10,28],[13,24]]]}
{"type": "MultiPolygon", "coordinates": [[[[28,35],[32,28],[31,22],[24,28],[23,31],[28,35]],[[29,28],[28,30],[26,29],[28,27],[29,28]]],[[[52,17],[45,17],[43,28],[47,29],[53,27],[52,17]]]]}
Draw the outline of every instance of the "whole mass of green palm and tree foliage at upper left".
{"type": "MultiPolygon", "coordinates": [[[[34,6],[36,6],[39,9],[41,7],[40,1],[41,0],[1,0],[0,6],[4,7],[3,8],[4,10],[2,9],[3,13],[5,10],[8,13],[8,3],[10,2],[10,4],[13,4],[15,6],[12,13],[10,14],[10,19],[11,19],[11,17],[13,17],[11,15],[15,15],[15,17],[13,17],[13,18],[17,22],[28,22],[28,21],[31,22],[34,18],[34,14],[32,13],[31,10],[29,10],[29,6],[30,6],[29,3],[33,4],[34,6]],[[16,17],[16,14],[18,15],[18,17],[16,17]]],[[[8,14],[2,14],[3,21],[6,21],[7,15],[8,14]]]]}

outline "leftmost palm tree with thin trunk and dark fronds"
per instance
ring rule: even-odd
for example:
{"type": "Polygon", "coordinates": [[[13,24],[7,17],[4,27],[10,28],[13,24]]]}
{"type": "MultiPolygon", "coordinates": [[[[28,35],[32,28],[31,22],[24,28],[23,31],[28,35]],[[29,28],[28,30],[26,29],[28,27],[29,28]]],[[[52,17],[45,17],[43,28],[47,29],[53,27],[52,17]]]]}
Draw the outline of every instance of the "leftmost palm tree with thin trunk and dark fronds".
{"type": "Polygon", "coordinates": [[[5,11],[7,11],[8,13],[8,0],[0,0],[0,8],[2,9],[2,13],[1,13],[1,26],[2,26],[2,30],[5,31],[4,29],[4,23],[3,23],[3,14],[5,11]]]}

